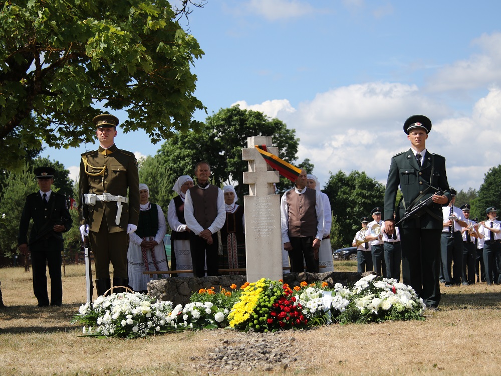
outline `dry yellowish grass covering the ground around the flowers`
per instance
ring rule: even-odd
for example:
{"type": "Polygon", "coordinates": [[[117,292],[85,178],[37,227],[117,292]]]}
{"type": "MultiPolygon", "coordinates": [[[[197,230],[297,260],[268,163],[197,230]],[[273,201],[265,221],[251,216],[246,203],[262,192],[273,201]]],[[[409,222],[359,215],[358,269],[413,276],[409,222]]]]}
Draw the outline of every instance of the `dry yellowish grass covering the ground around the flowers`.
{"type": "MultiPolygon", "coordinates": [[[[336,262],[354,271],[353,262],[336,262]],[[341,263],[351,263],[343,264],[341,263]]],[[[346,269],[346,270],[345,270],[346,269]]],[[[0,374],[207,374],[193,362],[208,362],[210,349],[230,330],[166,334],[136,340],[84,338],[69,321],[85,300],[83,266],[68,266],[63,307],[36,307],[31,273],[0,269],[0,374]]],[[[274,374],[499,374],[501,286],[442,287],[441,310],[426,321],[333,325],[291,332],[302,348],[297,368],[274,374]]],[[[238,372],[232,372],[235,374],[238,372]]],[[[239,374],[249,374],[245,370],[239,374]]],[[[266,374],[255,370],[250,374],[266,374]]]]}

